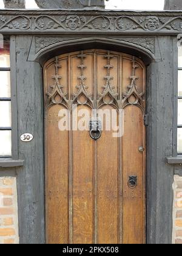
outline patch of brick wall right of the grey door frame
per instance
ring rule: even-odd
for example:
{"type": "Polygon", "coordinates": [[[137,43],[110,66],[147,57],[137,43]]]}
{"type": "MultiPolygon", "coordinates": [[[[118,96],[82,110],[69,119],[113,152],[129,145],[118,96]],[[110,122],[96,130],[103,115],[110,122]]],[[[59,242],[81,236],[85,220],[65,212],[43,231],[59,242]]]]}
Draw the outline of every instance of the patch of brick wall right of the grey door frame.
{"type": "Polygon", "coordinates": [[[174,177],[173,244],[182,244],[182,177],[174,177]]]}

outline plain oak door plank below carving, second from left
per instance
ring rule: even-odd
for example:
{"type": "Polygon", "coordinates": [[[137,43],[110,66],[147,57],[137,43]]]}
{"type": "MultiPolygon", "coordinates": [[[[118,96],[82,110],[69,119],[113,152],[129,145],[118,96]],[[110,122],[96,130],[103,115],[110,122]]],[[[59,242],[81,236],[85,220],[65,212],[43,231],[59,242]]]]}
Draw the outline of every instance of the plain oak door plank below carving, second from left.
{"type": "MultiPolygon", "coordinates": [[[[88,107],[79,106],[78,111],[88,107]]],[[[94,141],[87,130],[73,131],[73,243],[94,243],[94,141]]]]}

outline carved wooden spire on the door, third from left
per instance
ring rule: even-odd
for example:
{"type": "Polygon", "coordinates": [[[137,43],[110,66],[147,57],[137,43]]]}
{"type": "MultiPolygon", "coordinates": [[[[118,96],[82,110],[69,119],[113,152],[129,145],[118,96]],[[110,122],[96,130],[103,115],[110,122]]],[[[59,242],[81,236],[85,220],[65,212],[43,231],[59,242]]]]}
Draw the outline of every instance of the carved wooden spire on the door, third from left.
{"type": "Polygon", "coordinates": [[[104,68],[107,69],[107,76],[104,77],[106,80],[106,85],[104,85],[102,88],[103,93],[99,93],[100,98],[98,99],[98,108],[102,105],[113,105],[114,107],[118,108],[118,93],[115,93],[113,90],[115,87],[112,86],[112,80],[113,77],[110,76],[110,69],[113,68],[113,66],[110,63],[110,60],[113,59],[113,55],[110,55],[110,51],[107,52],[107,55],[104,56],[104,58],[107,59],[107,65],[104,66],[104,68]]]}

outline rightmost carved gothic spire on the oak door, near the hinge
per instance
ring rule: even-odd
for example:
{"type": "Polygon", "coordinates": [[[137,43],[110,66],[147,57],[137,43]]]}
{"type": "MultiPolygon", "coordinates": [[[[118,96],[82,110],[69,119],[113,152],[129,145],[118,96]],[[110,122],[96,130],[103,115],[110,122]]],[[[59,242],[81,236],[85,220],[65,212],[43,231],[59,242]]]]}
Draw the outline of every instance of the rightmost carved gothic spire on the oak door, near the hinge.
{"type": "Polygon", "coordinates": [[[144,110],[144,105],[143,105],[144,93],[139,93],[136,85],[136,80],[138,79],[138,77],[136,77],[136,69],[138,68],[138,66],[136,65],[135,57],[133,57],[132,64],[133,64],[132,76],[129,77],[129,79],[131,79],[131,84],[127,86],[129,91],[123,94],[122,106],[124,108],[127,105],[138,105],[138,107],[144,110]]]}

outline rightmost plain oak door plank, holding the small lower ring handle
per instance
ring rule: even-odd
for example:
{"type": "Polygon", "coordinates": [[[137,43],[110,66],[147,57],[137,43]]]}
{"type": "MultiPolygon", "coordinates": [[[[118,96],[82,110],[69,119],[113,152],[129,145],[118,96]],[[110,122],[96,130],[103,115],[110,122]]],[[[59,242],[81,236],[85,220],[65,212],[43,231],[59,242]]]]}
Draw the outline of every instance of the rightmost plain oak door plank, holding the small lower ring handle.
{"type": "Polygon", "coordinates": [[[143,142],[143,112],[139,107],[130,105],[124,109],[124,135],[123,135],[123,243],[141,244],[144,238],[144,179],[145,170],[143,159],[145,151],[138,148],[143,142]],[[129,176],[137,176],[136,188],[129,188],[129,176]]]}

